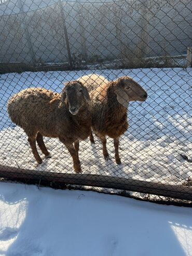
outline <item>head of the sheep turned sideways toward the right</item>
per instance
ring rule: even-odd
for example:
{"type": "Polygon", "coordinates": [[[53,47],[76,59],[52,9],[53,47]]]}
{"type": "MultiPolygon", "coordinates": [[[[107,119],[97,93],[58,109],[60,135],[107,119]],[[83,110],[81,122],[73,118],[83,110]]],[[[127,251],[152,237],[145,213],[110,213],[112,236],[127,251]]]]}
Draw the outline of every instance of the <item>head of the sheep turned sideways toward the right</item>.
{"type": "Polygon", "coordinates": [[[114,92],[118,102],[125,107],[128,107],[130,101],[147,99],[146,91],[129,76],[120,77],[115,81],[114,92]]]}

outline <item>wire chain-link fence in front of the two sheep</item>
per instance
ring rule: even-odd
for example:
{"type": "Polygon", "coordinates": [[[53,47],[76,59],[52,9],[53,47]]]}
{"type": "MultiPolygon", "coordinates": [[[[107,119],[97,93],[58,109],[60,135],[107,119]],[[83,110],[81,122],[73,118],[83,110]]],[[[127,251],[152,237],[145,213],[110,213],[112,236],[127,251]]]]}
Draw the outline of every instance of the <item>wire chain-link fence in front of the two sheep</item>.
{"type": "Polygon", "coordinates": [[[190,0],[0,0],[0,16],[2,181],[192,201],[190,0]]]}

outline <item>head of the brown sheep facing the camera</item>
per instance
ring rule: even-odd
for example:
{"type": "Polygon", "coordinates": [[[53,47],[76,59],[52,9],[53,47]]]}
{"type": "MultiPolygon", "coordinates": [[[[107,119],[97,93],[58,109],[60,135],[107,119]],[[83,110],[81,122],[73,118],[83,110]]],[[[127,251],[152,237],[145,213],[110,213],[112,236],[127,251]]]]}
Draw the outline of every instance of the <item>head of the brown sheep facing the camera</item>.
{"type": "Polygon", "coordinates": [[[61,93],[59,107],[65,104],[72,115],[76,115],[79,110],[90,102],[90,96],[87,88],[78,81],[65,83],[61,93]]]}

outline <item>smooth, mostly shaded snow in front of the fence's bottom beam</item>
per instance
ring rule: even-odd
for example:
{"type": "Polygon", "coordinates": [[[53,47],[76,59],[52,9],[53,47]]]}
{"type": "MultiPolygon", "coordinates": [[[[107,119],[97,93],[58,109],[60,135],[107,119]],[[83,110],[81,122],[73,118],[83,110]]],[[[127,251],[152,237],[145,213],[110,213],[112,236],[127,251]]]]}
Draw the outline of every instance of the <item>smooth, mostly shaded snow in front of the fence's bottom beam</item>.
{"type": "Polygon", "coordinates": [[[191,256],[192,209],[1,183],[1,256],[191,256]]]}

